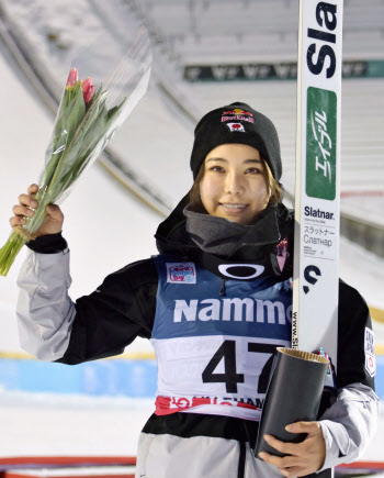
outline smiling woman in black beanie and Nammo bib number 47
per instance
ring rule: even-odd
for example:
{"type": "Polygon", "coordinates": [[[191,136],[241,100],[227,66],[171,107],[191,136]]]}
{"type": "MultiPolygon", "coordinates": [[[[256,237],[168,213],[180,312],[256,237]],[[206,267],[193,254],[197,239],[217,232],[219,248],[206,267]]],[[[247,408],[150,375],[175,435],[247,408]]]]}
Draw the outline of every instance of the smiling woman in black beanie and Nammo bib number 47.
{"type": "MultiPolygon", "coordinates": [[[[19,278],[22,346],[79,364],[123,352],[136,336],[158,362],[156,411],[139,438],[137,477],[296,477],[357,458],[377,398],[364,363],[371,329],[360,294],[340,281],[338,399],[318,422],[291,425],[301,444],[267,437],[290,456],[255,459],[271,357],[290,346],[293,214],[282,204],[276,131],[245,103],[195,129],[194,185],[158,227],[159,256],[106,277],[74,303],[57,205],[29,244],[19,278]],[[283,249],[283,252],[282,252],[283,249]]],[[[31,186],[12,226],[33,214],[31,186]]]]}

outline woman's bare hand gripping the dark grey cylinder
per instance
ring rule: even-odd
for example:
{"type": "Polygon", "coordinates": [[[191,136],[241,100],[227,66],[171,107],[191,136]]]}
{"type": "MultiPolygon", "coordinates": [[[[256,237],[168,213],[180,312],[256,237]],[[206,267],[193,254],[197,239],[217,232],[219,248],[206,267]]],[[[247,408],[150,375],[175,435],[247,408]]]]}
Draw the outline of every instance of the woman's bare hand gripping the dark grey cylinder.
{"type": "Polygon", "coordinates": [[[285,477],[302,477],[321,468],[326,458],[326,442],[318,422],[297,422],[285,429],[291,433],[307,433],[302,443],[281,442],[271,435],[264,435],[266,442],[283,453],[283,458],[269,453],[259,454],[266,463],[276,466],[285,477]]]}

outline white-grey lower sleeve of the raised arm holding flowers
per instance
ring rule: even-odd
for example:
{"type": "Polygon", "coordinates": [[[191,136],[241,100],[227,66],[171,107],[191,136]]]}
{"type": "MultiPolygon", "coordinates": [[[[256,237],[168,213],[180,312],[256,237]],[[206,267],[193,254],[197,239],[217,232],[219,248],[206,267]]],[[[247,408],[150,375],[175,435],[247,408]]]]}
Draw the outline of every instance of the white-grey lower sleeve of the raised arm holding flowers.
{"type": "Polygon", "coordinates": [[[42,360],[56,360],[68,347],[76,315],[70,284],[68,248],[56,254],[29,252],[18,278],[19,336],[22,348],[42,360]]]}

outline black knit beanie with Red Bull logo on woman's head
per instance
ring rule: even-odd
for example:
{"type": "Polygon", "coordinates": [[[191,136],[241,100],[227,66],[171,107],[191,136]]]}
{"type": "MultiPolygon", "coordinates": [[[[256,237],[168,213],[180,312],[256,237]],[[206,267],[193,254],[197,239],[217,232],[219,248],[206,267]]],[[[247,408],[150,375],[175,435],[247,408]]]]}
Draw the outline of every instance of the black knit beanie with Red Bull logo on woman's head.
{"type": "Polygon", "coordinates": [[[228,143],[247,144],[258,149],[279,182],[282,166],[276,129],[267,116],[238,101],[210,111],[199,121],[191,154],[193,179],[206,155],[214,147],[228,143]]]}

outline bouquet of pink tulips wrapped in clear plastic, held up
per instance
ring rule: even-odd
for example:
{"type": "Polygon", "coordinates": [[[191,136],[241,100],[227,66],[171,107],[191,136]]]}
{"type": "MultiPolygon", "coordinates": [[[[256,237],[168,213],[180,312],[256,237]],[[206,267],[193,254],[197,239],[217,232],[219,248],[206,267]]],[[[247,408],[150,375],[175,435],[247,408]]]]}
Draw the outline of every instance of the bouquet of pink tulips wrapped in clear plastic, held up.
{"type": "MultiPolygon", "coordinates": [[[[89,58],[86,64],[89,65],[89,58]]],[[[144,96],[150,67],[149,40],[142,27],[105,87],[100,81],[97,88],[90,77],[81,81],[77,68],[71,68],[38,181],[38,205],[23,226],[13,229],[0,249],[0,275],[7,276],[23,245],[35,238],[34,232],[47,216],[46,207],[69,193],[144,96]]]]}

